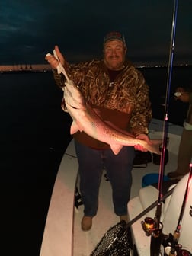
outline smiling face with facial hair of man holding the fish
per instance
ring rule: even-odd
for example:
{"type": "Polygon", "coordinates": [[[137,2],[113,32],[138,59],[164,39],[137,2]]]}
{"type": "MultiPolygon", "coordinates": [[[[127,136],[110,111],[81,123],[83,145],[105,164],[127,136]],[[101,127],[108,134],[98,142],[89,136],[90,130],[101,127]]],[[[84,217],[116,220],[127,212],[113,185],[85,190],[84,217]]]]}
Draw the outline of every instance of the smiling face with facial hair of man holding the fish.
{"type": "Polygon", "coordinates": [[[104,63],[108,69],[120,70],[126,56],[126,46],[120,40],[108,41],[104,45],[104,63]]]}

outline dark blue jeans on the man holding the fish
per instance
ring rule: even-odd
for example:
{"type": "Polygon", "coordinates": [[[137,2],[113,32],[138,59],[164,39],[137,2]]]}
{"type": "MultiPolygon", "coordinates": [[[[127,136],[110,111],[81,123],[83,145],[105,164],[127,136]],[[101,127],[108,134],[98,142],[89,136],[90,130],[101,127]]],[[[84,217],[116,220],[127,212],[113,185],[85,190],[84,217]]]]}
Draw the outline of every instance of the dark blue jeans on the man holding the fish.
{"type": "Polygon", "coordinates": [[[91,149],[75,141],[80,176],[80,191],[84,203],[85,216],[95,216],[98,211],[98,194],[103,167],[112,187],[114,213],[126,215],[132,185],[132,168],[135,150],[123,146],[118,155],[111,149],[91,149]]]}

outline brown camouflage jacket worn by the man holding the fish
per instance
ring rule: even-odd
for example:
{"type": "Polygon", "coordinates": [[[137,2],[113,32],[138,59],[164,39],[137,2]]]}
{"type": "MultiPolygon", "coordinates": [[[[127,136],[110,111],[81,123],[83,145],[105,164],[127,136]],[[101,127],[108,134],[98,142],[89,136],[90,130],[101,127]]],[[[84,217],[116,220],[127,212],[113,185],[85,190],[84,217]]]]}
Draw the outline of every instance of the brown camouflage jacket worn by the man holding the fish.
{"type": "MultiPolygon", "coordinates": [[[[65,69],[69,78],[81,88],[89,104],[100,110],[103,120],[110,121],[134,135],[149,132],[148,126],[152,119],[149,86],[146,85],[142,73],[131,62],[124,63],[124,69],[112,85],[103,60],[66,64],[65,69]]],[[[62,88],[65,78],[56,71],[54,78],[56,84],[62,88]]],[[[90,146],[87,139],[78,138],[78,141],[90,146]]],[[[93,147],[103,149],[98,143],[93,147]]]]}

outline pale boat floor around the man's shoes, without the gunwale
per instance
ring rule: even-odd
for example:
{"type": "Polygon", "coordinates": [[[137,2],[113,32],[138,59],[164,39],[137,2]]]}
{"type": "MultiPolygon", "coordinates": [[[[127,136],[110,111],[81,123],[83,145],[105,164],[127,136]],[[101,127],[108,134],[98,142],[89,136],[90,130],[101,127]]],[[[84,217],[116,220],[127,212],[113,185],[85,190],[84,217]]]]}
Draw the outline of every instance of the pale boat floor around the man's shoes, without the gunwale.
{"type": "MultiPolygon", "coordinates": [[[[170,154],[170,160],[165,168],[165,174],[168,171],[174,171],[176,168],[176,160],[176,156],[170,154]]],[[[158,173],[158,171],[159,166],[153,163],[149,163],[147,168],[133,168],[131,198],[138,196],[139,189],[142,187],[142,177],[149,173],[158,173]]],[[[94,250],[107,230],[119,222],[119,217],[114,214],[110,183],[109,181],[105,181],[104,175],[100,187],[98,214],[94,217],[92,229],[88,232],[81,230],[82,216],[83,206],[79,206],[79,209],[75,210],[74,214],[74,256],[88,256],[91,254],[91,251],[94,250]]]]}

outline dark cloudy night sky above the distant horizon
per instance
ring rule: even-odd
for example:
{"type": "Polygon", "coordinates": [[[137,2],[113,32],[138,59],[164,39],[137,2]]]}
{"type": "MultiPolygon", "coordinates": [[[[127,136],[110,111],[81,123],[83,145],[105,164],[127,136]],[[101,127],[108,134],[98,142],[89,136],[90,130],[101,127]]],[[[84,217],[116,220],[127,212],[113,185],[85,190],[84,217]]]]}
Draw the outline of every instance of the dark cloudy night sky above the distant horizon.
{"type": "MultiPolygon", "coordinates": [[[[69,62],[102,56],[104,35],[119,30],[127,56],[166,65],[174,0],[1,0],[0,65],[44,64],[57,44],[69,62]]],[[[192,64],[192,0],[178,0],[174,63],[192,64]]]]}

